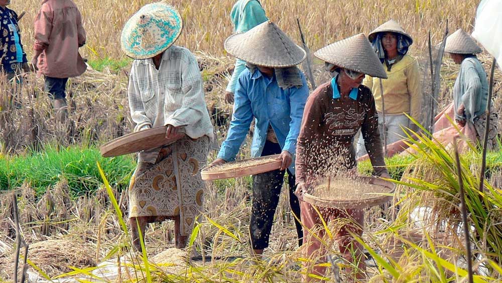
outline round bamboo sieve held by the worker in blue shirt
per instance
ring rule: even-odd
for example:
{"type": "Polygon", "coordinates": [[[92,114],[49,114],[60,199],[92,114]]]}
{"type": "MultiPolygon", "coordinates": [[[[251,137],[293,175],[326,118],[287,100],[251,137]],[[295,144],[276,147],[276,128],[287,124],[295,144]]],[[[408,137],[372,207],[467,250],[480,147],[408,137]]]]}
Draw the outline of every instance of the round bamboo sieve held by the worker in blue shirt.
{"type": "Polygon", "coordinates": [[[281,168],[280,154],[227,162],[202,169],[203,180],[219,180],[256,175],[281,168]]]}

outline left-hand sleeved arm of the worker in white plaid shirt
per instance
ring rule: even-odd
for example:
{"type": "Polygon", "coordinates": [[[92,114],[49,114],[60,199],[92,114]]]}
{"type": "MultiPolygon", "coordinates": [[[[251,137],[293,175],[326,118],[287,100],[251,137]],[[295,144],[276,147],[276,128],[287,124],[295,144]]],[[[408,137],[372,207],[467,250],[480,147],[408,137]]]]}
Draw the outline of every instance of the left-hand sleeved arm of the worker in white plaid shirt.
{"type": "Polygon", "coordinates": [[[140,88],[136,78],[136,65],[133,63],[131,73],[129,75],[128,87],[129,108],[131,110],[131,118],[136,123],[134,132],[151,128],[153,122],[147,117],[145,113],[145,106],[141,100],[140,88]]]}

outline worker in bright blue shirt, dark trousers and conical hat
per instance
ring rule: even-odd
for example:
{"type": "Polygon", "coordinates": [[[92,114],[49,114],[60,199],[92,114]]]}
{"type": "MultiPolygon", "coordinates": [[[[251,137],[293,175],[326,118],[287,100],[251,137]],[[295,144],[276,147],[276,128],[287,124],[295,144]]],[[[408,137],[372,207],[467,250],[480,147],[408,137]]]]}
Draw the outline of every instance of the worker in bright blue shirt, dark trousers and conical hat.
{"type": "MultiPolygon", "coordinates": [[[[233,117],[226,140],[211,165],[235,160],[253,119],[252,157],[280,154],[282,159],[280,170],[253,176],[249,234],[253,252],[260,256],[269,246],[285,170],[288,171],[291,210],[296,216],[300,215],[294,195],[294,155],[309,90],[305,76],[296,65],[305,59],[306,53],[272,22],[230,36],[225,41],[225,49],[247,62],[247,68],[240,74],[235,88],[233,117]]],[[[295,224],[301,245],[302,227],[296,221],[295,224]]]]}

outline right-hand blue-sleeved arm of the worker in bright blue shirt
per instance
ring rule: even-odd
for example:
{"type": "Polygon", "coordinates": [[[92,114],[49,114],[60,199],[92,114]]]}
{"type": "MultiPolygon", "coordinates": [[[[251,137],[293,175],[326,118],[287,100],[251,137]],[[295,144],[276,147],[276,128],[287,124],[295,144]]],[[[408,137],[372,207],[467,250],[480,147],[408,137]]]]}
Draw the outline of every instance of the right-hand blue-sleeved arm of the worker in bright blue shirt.
{"type": "Polygon", "coordinates": [[[300,88],[291,87],[289,88],[289,103],[291,108],[289,123],[289,132],[286,136],[286,142],[284,143],[283,150],[288,151],[292,155],[296,153],[296,145],[298,135],[300,134],[300,127],[302,125],[303,111],[305,109],[305,104],[307,98],[309,97],[309,87],[307,86],[307,81],[305,76],[302,74],[303,86],[300,88]]]}

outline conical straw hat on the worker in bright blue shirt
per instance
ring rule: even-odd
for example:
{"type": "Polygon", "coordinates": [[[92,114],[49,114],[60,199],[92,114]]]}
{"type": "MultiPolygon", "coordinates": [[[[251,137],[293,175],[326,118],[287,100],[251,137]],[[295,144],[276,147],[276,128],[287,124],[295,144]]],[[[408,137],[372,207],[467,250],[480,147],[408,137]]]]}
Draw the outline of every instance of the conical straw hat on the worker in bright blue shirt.
{"type": "Polygon", "coordinates": [[[250,64],[286,68],[300,64],[307,53],[274,23],[267,21],[225,40],[225,50],[250,64]]]}

